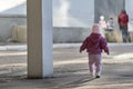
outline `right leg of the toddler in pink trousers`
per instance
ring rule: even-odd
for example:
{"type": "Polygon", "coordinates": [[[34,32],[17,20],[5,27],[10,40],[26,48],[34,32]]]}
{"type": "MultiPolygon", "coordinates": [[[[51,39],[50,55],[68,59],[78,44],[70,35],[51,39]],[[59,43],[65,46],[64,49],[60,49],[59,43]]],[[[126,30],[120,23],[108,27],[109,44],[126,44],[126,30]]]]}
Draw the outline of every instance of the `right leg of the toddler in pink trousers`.
{"type": "Polygon", "coordinates": [[[96,67],[96,75],[100,76],[102,71],[102,58],[101,55],[95,55],[95,67],[96,67]]]}

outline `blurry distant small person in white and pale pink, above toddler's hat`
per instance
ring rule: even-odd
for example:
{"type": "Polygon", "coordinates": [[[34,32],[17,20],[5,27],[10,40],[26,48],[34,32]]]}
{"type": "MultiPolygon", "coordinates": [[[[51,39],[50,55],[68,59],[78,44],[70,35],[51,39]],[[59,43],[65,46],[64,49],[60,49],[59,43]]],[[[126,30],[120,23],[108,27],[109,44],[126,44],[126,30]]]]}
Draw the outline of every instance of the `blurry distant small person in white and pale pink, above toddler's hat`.
{"type": "Polygon", "coordinates": [[[100,24],[100,32],[105,38],[106,22],[104,20],[104,16],[100,17],[99,24],[100,24]]]}

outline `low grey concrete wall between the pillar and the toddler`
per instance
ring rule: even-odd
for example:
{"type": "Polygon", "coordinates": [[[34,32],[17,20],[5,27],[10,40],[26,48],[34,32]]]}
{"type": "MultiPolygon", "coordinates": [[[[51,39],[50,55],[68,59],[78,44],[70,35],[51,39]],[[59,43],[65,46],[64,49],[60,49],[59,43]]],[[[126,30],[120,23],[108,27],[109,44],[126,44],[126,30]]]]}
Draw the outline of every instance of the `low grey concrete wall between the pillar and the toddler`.
{"type": "Polygon", "coordinates": [[[90,28],[53,27],[53,42],[82,42],[90,32],[90,28]]]}

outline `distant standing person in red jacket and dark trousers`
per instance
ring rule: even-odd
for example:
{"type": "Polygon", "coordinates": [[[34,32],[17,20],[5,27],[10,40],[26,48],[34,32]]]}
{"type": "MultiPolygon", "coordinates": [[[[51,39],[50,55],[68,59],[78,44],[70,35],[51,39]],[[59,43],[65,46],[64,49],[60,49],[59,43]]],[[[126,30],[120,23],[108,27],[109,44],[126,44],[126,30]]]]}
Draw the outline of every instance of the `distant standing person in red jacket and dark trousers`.
{"type": "Polygon", "coordinates": [[[129,42],[129,32],[127,32],[129,14],[124,9],[119,14],[117,22],[120,26],[120,30],[122,32],[123,42],[129,42]]]}

